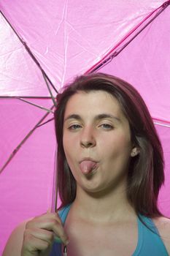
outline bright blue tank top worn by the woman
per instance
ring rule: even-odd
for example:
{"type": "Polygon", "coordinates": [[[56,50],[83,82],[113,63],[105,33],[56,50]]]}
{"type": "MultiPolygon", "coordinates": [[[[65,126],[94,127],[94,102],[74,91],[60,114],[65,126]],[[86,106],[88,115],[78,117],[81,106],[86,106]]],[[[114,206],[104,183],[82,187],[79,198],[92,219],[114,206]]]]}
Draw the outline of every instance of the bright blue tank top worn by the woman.
{"type": "MultiPolygon", "coordinates": [[[[71,205],[66,206],[58,211],[59,216],[61,217],[61,221],[64,224],[66,221],[66,217],[69,214],[69,209],[71,205]]],[[[144,217],[140,215],[140,218],[144,223],[150,227],[153,232],[146,227],[139,219],[137,219],[138,223],[138,243],[136,249],[132,256],[169,256],[166,246],[163,244],[161,237],[159,236],[158,229],[155,227],[152,219],[144,217]]],[[[50,252],[50,256],[62,256],[62,246],[57,242],[53,243],[52,250],[50,252]]],[[[78,255],[75,255],[78,256],[78,255]]]]}

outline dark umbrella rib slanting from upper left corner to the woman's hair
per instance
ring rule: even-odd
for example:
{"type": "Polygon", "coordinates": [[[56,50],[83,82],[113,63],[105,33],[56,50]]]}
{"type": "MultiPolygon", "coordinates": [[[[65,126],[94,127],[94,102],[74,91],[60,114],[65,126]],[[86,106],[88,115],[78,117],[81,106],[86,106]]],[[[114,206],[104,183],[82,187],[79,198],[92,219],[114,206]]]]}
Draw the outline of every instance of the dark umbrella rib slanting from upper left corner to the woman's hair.
{"type": "MultiPolygon", "coordinates": [[[[0,11],[1,12],[1,11],[0,11]]],[[[9,20],[7,20],[6,16],[4,15],[3,12],[1,12],[1,15],[4,17],[4,19],[7,21],[7,23],[9,24],[9,26],[11,27],[11,29],[15,32],[16,36],[18,37],[18,39],[20,40],[20,42],[23,44],[23,46],[26,48],[29,56],[31,56],[31,59],[33,59],[33,61],[35,62],[35,64],[37,65],[37,67],[39,67],[39,69],[42,71],[42,75],[43,78],[47,78],[47,80],[49,81],[50,85],[53,87],[53,89],[55,90],[55,92],[58,94],[58,90],[55,88],[55,86],[53,85],[52,81],[50,80],[50,78],[48,78],[47,74],[45,73],[45,70],[42,69],[42,66],[39,64],[39,61],[36,59],[36,57],[34,56],[34,54],[31,52],[30,48],[28,48],[28,45],[26,44],[25,41],[23,41],[23,39],[19,36],[19,34],[17,33],[17,31],[13,28],[13,26],[11,25],[11,23],[9,23],[9,20]]],[[[46,80],[45,83],[47,84],[46,80]]],[[[47,86],[48,88],[48,86],[47,86]]],[[[50,93],[51,94],[51,93],[50,93]]]]}

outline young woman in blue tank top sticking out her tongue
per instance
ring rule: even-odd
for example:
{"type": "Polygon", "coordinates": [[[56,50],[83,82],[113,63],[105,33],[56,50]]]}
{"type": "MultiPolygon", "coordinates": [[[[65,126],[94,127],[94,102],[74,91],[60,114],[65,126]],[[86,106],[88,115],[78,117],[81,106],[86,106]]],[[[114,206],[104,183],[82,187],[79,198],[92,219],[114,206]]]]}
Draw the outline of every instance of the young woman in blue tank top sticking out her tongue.
{"type": "Polygon", "coordinates": [[[61,207],[17,227],[3,256],[59,256],[63,245],[69,256],[169,255],[163,152],[136,89],[102,73],[76,78],[58,94],[55,131],[61,207]]]}

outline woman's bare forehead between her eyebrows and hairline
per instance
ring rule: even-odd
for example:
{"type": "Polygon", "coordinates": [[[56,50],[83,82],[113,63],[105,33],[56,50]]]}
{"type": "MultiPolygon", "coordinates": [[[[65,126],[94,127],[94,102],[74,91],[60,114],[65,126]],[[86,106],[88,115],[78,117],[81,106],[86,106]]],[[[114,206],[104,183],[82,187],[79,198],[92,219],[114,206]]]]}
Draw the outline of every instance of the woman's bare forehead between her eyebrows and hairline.
{"type": "Polygon", "coordinates": [[[120,108],[120,103],[115,97],[107,91],[78,91],[68,100],[64,116],[72,113],[80,115],[98,115],[101,113],[115,114],[122,116],[123,111],[120,108]]]}

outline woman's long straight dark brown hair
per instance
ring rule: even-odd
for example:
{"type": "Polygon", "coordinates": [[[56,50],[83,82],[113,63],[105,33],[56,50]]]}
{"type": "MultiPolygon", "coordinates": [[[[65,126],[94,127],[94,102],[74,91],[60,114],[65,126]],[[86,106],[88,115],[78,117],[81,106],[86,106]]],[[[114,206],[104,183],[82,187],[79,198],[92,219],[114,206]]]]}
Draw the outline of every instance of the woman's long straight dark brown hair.
{"type": "Polygon", "coordinates": [[[158,192],[164,182],[163,149],[152,118],[140,96],[131,84],[112,75],[93,73],[77,77],[57,96],[55,133],[58,143],[58,192],[61,207],[74,201],[76,181],[63,151],[63,116],[66,103],[78,91],[107,91],[115,97],[131,130],[131,142],[139,154],[131,157],[128,168],[127,196],[136,214],[146,217],[161,216],[158,209],[158,192]]]}

